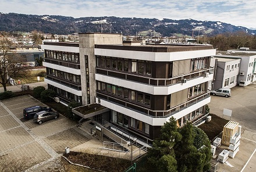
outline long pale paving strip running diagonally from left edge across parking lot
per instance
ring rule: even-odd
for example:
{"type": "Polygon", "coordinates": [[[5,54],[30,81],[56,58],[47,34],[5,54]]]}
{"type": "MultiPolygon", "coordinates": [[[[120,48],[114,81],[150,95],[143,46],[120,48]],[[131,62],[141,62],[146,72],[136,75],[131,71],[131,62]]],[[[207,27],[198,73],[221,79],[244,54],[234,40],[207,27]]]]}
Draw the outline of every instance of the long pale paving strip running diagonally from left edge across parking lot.
{"type": "Polygon", "coordinates": [[[31,135],[32,138],[35,139],[35,141],[38,142],[38,144],[42,146],[42,148],[44,148],[45,151],[49,153],[49,155],[51,155],[52,157],[59,156],[59,154],[56,153],[54,149],[52,149],[47,143],[45,143],[41,138],[39,138],[36,134],[34,134],[33,131],[31,131],[27,126],[25,126],[25,124],[22,123],[22,121],[20,121],[20,119],[17,118],[15,114],[12,113],[12,111],[10,111],[10,109],[8,109],[8,107],[6,107],[1,101],[0,101],[0,105],[13,117],[13,119],[17,121],[17,123],[20,124],[20,126],[24,128],[24,130],[26,130],[31,135]]]}

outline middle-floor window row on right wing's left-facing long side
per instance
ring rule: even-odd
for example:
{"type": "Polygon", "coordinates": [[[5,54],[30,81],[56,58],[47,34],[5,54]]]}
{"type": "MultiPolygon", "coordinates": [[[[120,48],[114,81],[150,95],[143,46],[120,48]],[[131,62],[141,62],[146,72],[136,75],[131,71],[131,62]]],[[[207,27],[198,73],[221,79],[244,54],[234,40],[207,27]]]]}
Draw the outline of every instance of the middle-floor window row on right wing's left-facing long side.
{"type": "Polygon", "coordinates": [[[128,99],[130,101],[142,103],[144,105],[150,105],[151,96],[148,94],[144,94],[143,92],[134,91],[131,89],[118,87],[116,85],[101,83],[98,81],[97,83],[98,91],[104,91],[108,94],[112,94],[115,96],[120,96],[122,98],[128,99]]]}

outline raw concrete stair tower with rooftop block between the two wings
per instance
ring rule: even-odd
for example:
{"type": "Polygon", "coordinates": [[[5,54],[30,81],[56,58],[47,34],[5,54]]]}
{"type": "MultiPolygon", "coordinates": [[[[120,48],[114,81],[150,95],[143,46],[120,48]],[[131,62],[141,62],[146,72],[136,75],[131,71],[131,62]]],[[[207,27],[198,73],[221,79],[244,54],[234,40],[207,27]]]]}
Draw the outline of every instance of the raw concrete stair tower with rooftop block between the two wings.
{"type": "Polygon", "coordinates": [[[96,81],[95,67],[96,58],[94,55],[95,45],[122,45],[123,37],[120,34],[102,34],[102,33],[84,33],[79,34],[79,53],[81,69],[81,86],[82,86],[82,103],[87,105],[87,83],[86,83],[86,60],[88,56],[89,84],[90,84],[90,103],[95,102],[96,98],[96,81]]]}

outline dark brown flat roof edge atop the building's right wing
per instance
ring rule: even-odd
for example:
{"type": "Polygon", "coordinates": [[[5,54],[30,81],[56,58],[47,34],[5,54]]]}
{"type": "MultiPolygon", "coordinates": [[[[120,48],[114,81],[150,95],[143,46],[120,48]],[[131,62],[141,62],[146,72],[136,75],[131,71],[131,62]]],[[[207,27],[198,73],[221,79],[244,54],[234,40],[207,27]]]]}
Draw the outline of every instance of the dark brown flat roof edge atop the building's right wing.
{"type": "Polygon", "coordinates": [[[144,52],[180,52],[180,51],[197,51],[212,49],[211,45],[195,46],[195,45],[139,45],[139,46],[123,46],[123,45],[95,45],[99,49],[115,49],[126,51],[144,51],[144,52]]]}

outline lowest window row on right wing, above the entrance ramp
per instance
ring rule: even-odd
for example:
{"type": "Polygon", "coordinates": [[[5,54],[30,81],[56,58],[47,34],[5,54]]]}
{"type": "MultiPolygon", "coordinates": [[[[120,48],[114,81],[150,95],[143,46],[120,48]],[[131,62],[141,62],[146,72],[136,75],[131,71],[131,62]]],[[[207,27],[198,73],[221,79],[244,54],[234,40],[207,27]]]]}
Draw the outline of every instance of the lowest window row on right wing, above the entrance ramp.
{"type": "Polygon", "coordinates": [[[145,134],[150,134],[149,124],[143,123],[140,120],[136,120],[132,117],[126,116],[123,113],[116,112],[115,110],[112,110],[112,123],[119,124],[123,127],[131,127],[135,130],[144,132],[145,134]]]}

